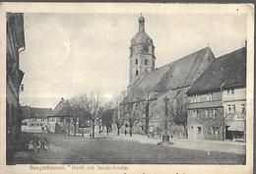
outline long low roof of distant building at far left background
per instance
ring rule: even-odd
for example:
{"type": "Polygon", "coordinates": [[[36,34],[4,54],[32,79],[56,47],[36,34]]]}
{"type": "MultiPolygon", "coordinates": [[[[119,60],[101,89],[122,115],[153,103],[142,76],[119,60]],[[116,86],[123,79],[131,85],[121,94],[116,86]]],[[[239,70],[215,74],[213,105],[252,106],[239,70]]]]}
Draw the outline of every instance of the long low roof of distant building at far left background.
{"type": "Polygon", "coordinates": [[[22,106],[22,118],[47,118],[47,116],[51,115],[51,108],[37,108],[30,106],[22,106]]]}

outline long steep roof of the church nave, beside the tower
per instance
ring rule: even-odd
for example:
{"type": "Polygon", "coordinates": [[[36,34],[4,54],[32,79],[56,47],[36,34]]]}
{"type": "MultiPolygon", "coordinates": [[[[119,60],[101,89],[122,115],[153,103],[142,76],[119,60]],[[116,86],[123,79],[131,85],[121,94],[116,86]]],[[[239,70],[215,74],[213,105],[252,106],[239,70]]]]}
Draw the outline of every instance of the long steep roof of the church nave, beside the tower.
{"type": "Polygon", "coordinates": [[[132,88],[138,94],[145,89],[161,92],[179,87],[189,87],[192,85],[205,56],[214,57],[210,47],[203,48],[156,69],[147,74],[139,84],[135,84],[132,88]]]}

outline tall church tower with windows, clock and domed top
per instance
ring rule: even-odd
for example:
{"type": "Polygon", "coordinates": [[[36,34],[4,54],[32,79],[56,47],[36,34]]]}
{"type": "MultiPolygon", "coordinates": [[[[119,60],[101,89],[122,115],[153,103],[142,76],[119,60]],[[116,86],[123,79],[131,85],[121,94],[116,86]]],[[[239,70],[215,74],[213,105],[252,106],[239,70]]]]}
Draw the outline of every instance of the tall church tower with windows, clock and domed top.
{"type": "Polygon", "coordinates": [[[145,19],[139,18],[139,31],[131,40],[130,46],[130,86],[144,73],[155,70],[155,46],[145,32],[145,19]]]}

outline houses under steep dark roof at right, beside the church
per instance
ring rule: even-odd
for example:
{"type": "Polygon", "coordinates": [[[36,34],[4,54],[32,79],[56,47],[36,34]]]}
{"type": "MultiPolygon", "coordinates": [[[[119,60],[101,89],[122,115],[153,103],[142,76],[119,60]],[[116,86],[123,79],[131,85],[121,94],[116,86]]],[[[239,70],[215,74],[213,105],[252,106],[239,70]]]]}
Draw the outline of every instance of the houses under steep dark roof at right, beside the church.
{"type": "Polygon", "coordinates": [[[189,88],[190,140],[245,140],[246,48],[217,58],[189,88]]]}

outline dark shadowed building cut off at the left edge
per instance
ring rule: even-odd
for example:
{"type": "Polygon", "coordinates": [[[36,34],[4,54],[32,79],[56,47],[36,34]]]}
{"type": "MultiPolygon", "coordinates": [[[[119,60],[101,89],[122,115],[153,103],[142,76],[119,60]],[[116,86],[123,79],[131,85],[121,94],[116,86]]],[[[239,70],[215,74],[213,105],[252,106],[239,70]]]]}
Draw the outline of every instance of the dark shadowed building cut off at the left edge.
{"type": "Polygon", "coordinates": [[[20,70],[20,53],[25,50],[25,36],[23,14],[7,13],[6,21],[6,146],[10,164],[21,132],[19,92],[24,72],[20,70]]]}

